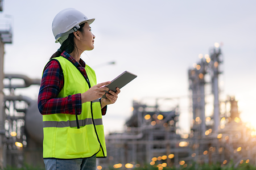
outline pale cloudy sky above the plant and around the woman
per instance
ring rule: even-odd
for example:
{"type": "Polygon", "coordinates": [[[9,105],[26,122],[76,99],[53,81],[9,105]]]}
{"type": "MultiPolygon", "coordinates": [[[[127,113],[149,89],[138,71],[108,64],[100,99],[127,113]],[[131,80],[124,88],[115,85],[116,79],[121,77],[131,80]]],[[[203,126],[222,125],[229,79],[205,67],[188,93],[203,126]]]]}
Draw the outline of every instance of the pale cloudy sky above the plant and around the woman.
{"type": "MultiPolygon", "coordinates": [[[[13,44],[5,45],[5,73],[40,78],[49,57],[60,47],[51,24],[55,15],[72,7],[88,18],[96,36],[94,49],[81,58],[95,68],[97,81],[114,79],[127,70],[137,74],[108,106],[105,133],[122,131],[132,114],[133,100],[180,97],[179,125],[189,130],[188,69],[221,45],[224,63],[220,99],[235,96],[241,120],[255,123],[256,1],[4,1],[2,25],[11,22],[13,44]],[[108,65],[108,62],[115,65],[108,65]]],[[[37,99],[39,87],[16,90],[37,99]]],[[[207,101],[208,102],[208,101],[207,101]]],[[[173,105],[170,101],[170,105],[173,105]]],[[[207,110],[207,115],[212,114],[207,110]]]]}

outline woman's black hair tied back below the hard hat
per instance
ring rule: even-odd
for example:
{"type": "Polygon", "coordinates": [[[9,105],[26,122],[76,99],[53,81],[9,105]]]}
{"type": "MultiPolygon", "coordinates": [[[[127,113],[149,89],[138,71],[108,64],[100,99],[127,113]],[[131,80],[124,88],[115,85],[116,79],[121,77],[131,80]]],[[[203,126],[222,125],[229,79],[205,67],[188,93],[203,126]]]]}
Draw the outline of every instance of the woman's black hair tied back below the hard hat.
{"type": "MultiPolygon", "coordinates": [[[[85,24],[85,23],[83,23],[83,24],[80,25],[80,28],[78,29],[78,31],[82,32],[82,27],[84,27],[84,24],[85,24]]],[[[68,39],[65,40],[65,41],[61,44],[60,49],[63,50],[63,51],[65,50],[65,51],[66,51],[67,53],[69,53],[69,54],[72,53],[73,50],[76,50],[76,52],[78,53],[77,46],[76,46],[76,44],[75,44],[75,42],[74,42],[74,38],[75,38],[74,33],[73,33],[73,32],[72,32],[72,33],[69,33],[68,39]]],[[[55,58],[55,57],[60,57],[60,55],[61,55],[61,52],[59,52],[59,51],[57,50],[57,52],[55,52],[54,54],[52,54],[52,57],[51,57],[50,59],[55,58]]]]}

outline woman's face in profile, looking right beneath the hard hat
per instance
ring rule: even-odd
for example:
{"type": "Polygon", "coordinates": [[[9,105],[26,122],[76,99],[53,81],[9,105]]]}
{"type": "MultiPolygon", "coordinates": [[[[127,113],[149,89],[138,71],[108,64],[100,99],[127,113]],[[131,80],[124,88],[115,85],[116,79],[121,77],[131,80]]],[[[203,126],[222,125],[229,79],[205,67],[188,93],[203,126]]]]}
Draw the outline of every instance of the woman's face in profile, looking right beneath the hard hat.
{"type": "Polygon", "coordinates": [[[90,25],[88,23],[84,24],[84,27],[82,27],[83,32],[81,32],[81,39],[80,39],[80,45],[83,48],[83,50],[92,50],[94,49],[94,39],[95,36],[91,32],[90,25]]]}

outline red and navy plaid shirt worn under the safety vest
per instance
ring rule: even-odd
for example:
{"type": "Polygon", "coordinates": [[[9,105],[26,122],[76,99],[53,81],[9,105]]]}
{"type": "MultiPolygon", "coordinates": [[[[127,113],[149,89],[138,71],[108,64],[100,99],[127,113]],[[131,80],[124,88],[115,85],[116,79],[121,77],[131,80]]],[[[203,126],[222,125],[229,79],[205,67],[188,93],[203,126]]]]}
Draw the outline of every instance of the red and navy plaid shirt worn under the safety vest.
{"type": "MultiPolygon", "coordinates": [[[[85,62],[77,62],[76,59],[71,57],[67,52],[61,53],[61,56],[67,58],[80,73],[85,77],[85,62]]],[[[77,113],[81,114],[82,111],[82,102],[81,94],[69,95],[63,98],[57,98],[59,92],[62,90],[64,85],[64,75],[59,65],[59,62],[52,59],[49,61],[44,68],[41,86],[38,95],[38,109],[41,114],[55,114],[55,113],[64,113],[64,114],[75,114],[75,107],[77,113]]],[[[102,115],[106,114],[106,108],[101,109],[102,115]]]]}

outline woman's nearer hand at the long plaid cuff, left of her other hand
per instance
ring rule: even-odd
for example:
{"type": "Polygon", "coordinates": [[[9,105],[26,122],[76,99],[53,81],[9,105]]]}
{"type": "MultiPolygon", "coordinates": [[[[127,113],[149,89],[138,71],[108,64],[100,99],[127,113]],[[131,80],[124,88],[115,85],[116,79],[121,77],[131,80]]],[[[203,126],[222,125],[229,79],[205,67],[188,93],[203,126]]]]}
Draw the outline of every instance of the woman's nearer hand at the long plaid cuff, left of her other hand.
{"type": "Polygon", "coordinates": [[[82,103],[85,103],[87,101],[93,101],[93,100],[96,100],[98,98],[101,98],[105,94],[105,91],[109,91],[108,87],[102,87],[102,86],[106,86],[110,83],[111,82],[98,83],[95,86],[89,88],[88,91],[81,94],[82,103]]]}

